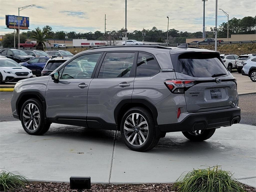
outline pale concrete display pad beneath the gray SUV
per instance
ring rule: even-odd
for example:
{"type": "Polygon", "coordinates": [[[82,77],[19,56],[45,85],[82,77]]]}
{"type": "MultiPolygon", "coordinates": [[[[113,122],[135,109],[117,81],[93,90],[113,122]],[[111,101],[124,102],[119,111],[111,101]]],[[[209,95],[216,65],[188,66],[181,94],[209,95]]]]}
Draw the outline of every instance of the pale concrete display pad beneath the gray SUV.
{"type": "Polygon", "coordinates": [[[19,121],[0,122],[0,128],[0,168],[31,180],[91,176],[92,183],[172,183],[184,171],[222,165],[256,187],[256,130],[251,125],[221,127],[198,143],[181,132],[167,133],[143,153],[129,150],[115,131],[52,124],[45,135],[31,136],[19,121]]]}

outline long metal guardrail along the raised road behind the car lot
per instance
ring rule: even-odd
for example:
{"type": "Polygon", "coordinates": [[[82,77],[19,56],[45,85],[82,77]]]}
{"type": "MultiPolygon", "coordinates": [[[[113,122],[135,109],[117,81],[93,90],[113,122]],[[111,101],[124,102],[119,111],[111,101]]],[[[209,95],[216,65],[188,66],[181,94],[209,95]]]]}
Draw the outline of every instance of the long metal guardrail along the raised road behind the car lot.
{"type": "MultiPolygon", "coordinates": [[[[231,44],[255,44],[256,40],[254,41],[223,41],[223,42],[217,42],[217,45],[231,45],[231,44]]],[[[175,44],[166,44],[166,43],[154,43],[154,44],[146,44],[146,45],[160,45],[160,46],[167,46],[167,47],[177,47],[180,44],[183,43],[175,43],[175,44]]],[[[215,42],[208,42],[208,43],[187,43],[188,46],[194,46],[194,47],[198,47],[199,45],[215,45],[215,42]]],[[[108,45],[98,45],[98,46],[67,46],[65,48],[60,48],[60,47],[46,47],[47,50],[67,50],[67,49],[71,49],[71,48],[93,48],[93,47],[105,47],[108,45]]],[[[35,49],[35,48],[23,48],[23,49],[35,49]]]]}

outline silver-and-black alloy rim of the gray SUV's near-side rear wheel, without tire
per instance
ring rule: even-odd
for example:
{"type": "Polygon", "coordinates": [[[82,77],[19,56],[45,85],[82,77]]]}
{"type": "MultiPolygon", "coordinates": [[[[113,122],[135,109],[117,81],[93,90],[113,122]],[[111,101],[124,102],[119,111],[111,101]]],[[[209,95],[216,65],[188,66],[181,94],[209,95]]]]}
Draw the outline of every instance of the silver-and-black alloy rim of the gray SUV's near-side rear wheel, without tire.
{"type": "Polygon", "coordinates": [[[133,146],[144,144],[148,137],[148,123],[139,113],[130,114],[124,122],[124,135],[133,146]]]}

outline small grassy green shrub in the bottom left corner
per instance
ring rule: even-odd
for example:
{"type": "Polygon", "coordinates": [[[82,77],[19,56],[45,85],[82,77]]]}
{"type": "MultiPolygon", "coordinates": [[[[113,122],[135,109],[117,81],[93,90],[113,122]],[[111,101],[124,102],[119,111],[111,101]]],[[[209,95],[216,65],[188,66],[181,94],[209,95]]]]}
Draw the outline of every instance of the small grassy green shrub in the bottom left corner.
{"type": "Polygon", "coordinates": [[[17,187],[24,186],[26,182],[26,177],[19,175],[15,172],[0,172],[0,191],[10,191],[17,187]]]}

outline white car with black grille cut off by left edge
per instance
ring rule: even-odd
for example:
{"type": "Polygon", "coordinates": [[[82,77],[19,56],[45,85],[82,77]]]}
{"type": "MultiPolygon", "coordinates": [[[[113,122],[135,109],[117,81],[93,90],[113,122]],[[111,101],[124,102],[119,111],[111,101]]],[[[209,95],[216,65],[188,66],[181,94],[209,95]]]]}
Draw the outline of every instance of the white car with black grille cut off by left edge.
{"type": "Polygon", "coordinates": [[[0,84],[33,77],[32,71],[9,58],[0,58],[0,84]]]}

